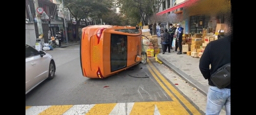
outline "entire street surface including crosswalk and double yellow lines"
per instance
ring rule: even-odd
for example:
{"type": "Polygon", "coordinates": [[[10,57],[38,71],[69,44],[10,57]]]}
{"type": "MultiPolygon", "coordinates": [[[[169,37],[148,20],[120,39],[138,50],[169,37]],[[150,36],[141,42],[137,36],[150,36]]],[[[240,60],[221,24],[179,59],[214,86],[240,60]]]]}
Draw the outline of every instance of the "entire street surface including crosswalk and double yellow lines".
{"type": "Polygon", "coordinates": [[[26,95],[26,114],[205,114],[206,97],[154,58],[91,79],[82,76],[79,45],[46,52],[55,77],[26,95]]]}

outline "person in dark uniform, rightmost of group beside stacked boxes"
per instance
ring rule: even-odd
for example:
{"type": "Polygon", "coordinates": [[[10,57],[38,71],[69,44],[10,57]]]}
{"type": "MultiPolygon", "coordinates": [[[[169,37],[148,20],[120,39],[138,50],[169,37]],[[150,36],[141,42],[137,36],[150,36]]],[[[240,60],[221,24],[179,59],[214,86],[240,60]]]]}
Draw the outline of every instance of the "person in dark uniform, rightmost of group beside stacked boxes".
{"type": "MultiPolygon", "coordinates": [[[[182,35],[183,35],[183,28],[182,27],[180,27],[180,24],[177,24],[177,29],[176,29],[176,31],[177,31],[177,37],[176,37],[176,41],[177,41],[177,44],[178,44],[178,47],[179,47],[179,49],[180,49],[180,51],[179,52],[177,52],[177,54],[182,54],[182,35]]],[[[176,43],[175,43],[175,45],[176,45],[176,43]]],[[[175,51],[177,51],[177,47],[175,47],[175,51]]]]}

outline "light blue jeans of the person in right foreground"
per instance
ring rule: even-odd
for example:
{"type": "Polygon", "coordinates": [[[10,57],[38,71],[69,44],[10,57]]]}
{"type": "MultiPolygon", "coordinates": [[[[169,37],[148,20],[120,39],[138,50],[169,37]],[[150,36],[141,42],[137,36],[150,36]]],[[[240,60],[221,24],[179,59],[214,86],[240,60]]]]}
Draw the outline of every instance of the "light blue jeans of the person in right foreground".
{"type": "Polygon", "coordinates": [[[226,108],[226,115],[230,115],[230,89],[209,86],[206,115],[219,115],[223,106],[226,108]]]}

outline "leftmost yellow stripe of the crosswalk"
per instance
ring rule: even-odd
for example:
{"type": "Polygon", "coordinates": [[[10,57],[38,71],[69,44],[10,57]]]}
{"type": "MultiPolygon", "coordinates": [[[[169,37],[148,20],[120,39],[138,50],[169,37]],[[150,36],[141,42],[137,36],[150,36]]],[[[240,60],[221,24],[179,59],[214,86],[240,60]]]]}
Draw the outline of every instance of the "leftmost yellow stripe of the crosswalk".
{"type": "Polygon", "coordinates": [[[53,105],[49,107],[48,109],[42,111],[38,115],[59,115],[66,112],[68,109],[70,109],[73,105],[53,105]]]}

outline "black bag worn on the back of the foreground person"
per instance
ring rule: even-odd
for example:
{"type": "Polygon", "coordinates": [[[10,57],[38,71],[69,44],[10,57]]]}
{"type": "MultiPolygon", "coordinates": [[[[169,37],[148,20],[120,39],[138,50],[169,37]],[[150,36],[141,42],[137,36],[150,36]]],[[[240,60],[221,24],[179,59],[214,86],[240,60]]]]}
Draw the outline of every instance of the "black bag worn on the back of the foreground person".
{"type": "Polygon", "coordinates": [[[230,84],[230,63],[223,65],[218,70],[211,74],[210,80],[218,88],[225,88],[230,84]]]}

